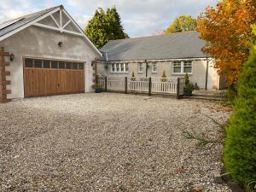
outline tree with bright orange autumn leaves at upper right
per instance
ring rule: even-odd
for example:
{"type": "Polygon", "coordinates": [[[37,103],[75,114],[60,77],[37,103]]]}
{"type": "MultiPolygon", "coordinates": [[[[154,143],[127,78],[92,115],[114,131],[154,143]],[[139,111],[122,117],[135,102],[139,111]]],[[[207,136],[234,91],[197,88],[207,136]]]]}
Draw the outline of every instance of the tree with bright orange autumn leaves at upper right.
{"type": "Polygon", "coordinates": [[[197,31],[206,41],[203,51],[215,59],[214,67],[226,75],[228,86],[236,84],[247,61],[255,23],[256,0],[221,0],[198,19],[197,31]]]}

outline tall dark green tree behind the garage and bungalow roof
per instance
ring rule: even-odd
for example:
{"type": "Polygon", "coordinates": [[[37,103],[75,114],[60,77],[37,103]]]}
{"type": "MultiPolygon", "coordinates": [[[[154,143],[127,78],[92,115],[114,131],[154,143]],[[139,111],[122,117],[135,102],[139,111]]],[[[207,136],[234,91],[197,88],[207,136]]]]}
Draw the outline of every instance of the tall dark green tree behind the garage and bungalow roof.
{"type": "Polygon", "coordinates": [[[102,8],[97,9],[84,32],[97,48],[101,48],[109,40],[129,38],[124,32],[120,16],[115,7],[107,9],[107,12],[102,8]]]}

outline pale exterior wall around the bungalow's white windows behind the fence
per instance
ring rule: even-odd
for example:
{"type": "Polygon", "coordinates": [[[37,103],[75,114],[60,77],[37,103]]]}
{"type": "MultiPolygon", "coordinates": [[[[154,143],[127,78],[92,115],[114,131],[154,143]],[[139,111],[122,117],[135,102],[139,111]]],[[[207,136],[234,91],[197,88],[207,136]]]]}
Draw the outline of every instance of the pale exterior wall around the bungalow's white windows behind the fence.
{"type": "MultiPolygon", "coordinates": [[[[189,60],[188,60],[189,61],[189,60]]],[[[143,73],[138,73],[138,62],[128,62],[128,73],[111,73],[111,66],[108,64],[106,69],[104,62],[98,62],[98,75],[106,75],[108,77],[131,77],[132,72],[135,73],[137,79],[146,77],[146,64],[143,63],[143,73]]],[[[161,77],[162,73],[166,71],[167,78],[183,78],[184,74],[172,73],[172,61],[157,61],[157,73],[152,73],[152,67],[148,68],[148,77],[161,77]]],[[[192,74],[189,74],[189,80],[191,83],[204,89],[206,85],[206,73],[207,73],[207,60],[192,61],[192,74]]],[[[208,90],[219,88],[219,75],[217,69],[213,67],[213,62],[209,61],[208,67],[208,90]]]]}

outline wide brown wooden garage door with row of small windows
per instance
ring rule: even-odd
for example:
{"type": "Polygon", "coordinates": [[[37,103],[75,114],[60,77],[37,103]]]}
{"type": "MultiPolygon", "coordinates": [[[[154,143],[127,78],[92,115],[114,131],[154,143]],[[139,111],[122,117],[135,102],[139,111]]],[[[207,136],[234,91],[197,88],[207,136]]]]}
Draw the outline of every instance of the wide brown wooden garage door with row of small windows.
{"type": "Polygon", "coordinates": [[[84,92],[84,63],[24,59],[25,96],[84,92]]]}

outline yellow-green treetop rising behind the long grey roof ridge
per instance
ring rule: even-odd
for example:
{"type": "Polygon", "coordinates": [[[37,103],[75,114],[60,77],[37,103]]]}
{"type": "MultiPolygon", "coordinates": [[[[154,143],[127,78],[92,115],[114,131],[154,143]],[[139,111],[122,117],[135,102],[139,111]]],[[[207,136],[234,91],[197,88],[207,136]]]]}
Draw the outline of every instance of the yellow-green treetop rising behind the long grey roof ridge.
{"type": "Polygon", "coordinates": [[[191,16],[181,15],[166,29],[165,34],[194,31],[196,26],[196,20],[191,16]]]}

